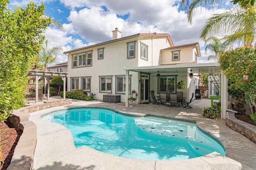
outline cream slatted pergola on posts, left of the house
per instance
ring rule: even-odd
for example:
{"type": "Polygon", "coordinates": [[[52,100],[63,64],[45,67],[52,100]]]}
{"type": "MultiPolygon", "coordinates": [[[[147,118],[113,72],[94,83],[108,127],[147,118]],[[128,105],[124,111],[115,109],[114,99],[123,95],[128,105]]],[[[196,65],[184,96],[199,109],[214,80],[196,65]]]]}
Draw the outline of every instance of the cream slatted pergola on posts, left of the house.
{"type": "MultiPolygon", "coordinates": [[[[53,72],[53,71],[42,71],[42,70],[28,70],[28,76],[36,77],[36,103],[38,103],[38,80],[41,77],[47,77],[48,79],[53,76],[62,77],[63,80],[63,98],[66,99],[66,77],[69,75],[67,72],[53,72]]],[[[50,86],[47,90],[47,98],[50,97],[50,86]]]]}

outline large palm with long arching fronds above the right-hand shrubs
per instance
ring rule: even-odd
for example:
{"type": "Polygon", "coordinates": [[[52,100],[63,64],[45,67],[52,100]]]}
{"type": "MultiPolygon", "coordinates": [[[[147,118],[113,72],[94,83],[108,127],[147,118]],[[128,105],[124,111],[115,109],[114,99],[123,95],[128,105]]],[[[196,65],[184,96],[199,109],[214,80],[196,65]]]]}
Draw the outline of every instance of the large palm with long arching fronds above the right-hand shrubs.
{"type": "Polygon", "coordinates": [[[256,34],[256,11],[253,6],[234,7],[223,14],[215,14],[206,20],[200,34],[201,39],[206,39],[208,35],[217,34],[220,31],[226,32],[221,40],[226,45],[252,47],[256,34]]]}

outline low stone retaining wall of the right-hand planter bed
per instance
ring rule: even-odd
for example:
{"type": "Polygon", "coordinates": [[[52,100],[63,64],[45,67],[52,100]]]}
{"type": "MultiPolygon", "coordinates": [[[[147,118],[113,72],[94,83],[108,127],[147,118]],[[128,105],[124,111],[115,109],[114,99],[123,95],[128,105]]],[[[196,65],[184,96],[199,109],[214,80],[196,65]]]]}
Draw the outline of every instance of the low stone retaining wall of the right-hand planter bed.
{"type": "Polygon", "coordinates": [[[256,143],[256,126],[236,119],[234,113],[226,113],[226,125],[256,143]]]}

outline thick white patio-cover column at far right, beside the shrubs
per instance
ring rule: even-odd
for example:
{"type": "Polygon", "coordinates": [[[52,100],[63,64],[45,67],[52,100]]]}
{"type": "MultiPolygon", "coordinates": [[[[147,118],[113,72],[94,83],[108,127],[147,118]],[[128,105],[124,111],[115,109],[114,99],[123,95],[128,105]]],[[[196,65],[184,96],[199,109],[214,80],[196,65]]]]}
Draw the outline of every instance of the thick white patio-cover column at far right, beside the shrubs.
{"type": "Polygon", "coordinates": [[[228,81],[226,76],[223,74],[223,70],[221,70],[221,119],[226,119],[226,111],[227,111],[227,100],[228,100],[228,81]]]}

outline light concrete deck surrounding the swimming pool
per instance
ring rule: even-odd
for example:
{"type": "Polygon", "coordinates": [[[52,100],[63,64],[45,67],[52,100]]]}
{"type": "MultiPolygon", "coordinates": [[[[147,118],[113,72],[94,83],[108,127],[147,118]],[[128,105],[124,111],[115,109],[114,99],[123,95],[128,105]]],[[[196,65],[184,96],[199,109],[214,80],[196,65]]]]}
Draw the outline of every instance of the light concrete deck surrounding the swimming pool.
{"type": "Polygon", "coordinates": [[[238,170],[255,169],[256,144],[240,133],[226,126],[224,119],[202,117],[202,108],[210,106],[210,100],[194,100],[192,109],[165,107],[152,104],[106,103],[100,100],[80,101],[66,106],[53,107],[30,113],[30,121],[37,125],[37,143],[34,153],[33,169],[39,170],[166,170],[166,169],[204,169],[238,170]],[[216,152],[188,160],[151,161],[135,160],[113,156],[89,147],[74,147],[72,135],[62,125],[47,122],[40,117],[46,113],[70,107],[94,106],[115,109],[122,113],[135,115],[159,115],[180,119],[195,120],[199,127],[221,141],[226,156],[216,152]]]}

